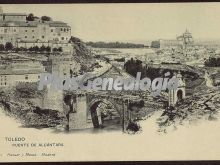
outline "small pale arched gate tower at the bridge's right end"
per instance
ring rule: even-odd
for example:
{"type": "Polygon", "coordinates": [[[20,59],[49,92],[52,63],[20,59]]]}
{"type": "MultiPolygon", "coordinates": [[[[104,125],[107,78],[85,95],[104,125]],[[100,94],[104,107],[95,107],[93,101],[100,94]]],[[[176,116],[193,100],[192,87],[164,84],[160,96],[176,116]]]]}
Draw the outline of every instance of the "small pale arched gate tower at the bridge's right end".
{"type": "Polygon", "coordinates": [[[178,79],[178,87],[169,90],[169,106],[175,106],[178,101],[186,97],[186,84],[180,71],[177,74],[174,73],[173,77],[178,79]]]}

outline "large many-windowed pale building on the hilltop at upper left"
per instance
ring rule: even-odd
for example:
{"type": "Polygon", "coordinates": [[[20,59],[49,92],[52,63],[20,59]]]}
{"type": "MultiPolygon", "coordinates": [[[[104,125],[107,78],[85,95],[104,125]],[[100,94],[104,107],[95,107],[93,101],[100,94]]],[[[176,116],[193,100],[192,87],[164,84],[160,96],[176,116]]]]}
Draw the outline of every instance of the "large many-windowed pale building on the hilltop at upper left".
{"type": "Polygon", "coordinates": [[[27,21],[24,13],[3,13],[0,9],[0,44],[11,42],[14,47],[33,46],[62,47],[64,52],[72,52],[69,40],[71,27],[62,21],[27,21]]]}

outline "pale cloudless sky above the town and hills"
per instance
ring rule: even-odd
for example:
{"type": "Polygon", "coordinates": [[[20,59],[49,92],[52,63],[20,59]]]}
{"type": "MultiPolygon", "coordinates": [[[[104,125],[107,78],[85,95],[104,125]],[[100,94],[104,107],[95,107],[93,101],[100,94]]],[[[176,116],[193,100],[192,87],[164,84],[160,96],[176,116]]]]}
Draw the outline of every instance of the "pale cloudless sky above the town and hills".
{"type": "Polygon", "coordinates": [[[195,39],[220,39],[220,3],[16,4],[5,13],[48,15],[83,41],[145,42],[175,39],[186,28],[195,39]]]}

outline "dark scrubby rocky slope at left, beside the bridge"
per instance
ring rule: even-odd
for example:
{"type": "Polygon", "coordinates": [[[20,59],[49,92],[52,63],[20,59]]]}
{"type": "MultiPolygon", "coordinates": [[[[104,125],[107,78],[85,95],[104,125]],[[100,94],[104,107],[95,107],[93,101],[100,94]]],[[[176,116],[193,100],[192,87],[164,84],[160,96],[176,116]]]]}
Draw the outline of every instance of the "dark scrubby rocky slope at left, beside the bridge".
{"type": "Polygon", "coordinates": [[[36,84],[21,83],[10,90],[0,89],[0,107],[5,114],[21,122],[24,127],[64,125],[64,114],[52,109],[41,109],[34,104],[33,100],[43,95],[37,91],[36,84]]]}

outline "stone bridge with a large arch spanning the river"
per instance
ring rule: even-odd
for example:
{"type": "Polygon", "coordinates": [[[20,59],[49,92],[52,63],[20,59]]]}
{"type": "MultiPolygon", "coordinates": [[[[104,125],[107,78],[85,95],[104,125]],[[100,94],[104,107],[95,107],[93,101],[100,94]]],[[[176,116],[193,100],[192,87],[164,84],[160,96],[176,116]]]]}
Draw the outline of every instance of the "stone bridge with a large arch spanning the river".
{"type": "MultiPolygon", "coordinates": [[[[97,107],[107,103],[120,116],[122,130],[125,131],[128,122],[132,120],[129,109],[131,102],[140,101],[136,96],[118,96],[111,92],[84,92],[71,95],[72,110],[69,112],[69,129],[99,128],[101,125],[97,107]]],[[[69,108],[69,107],[67,107],[69,108]]]]}

